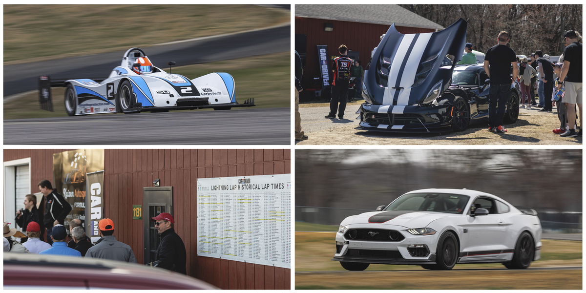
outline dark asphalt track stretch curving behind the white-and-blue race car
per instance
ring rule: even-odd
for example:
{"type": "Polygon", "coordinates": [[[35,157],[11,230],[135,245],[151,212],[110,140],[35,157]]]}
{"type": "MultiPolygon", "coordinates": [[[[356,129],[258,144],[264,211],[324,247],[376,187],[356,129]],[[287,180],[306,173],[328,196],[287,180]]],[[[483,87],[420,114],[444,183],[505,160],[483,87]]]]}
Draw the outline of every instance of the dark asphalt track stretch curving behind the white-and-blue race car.
{"type": "MultiPolygon", "coordinates": [[[[176,62],[175,66],[185,66],[286,52],[291,50],[290,36],[291,25],[285,24],[141,49],[155,66],[166,68],[169,61],[176,62]]],[[[36,90],[41,75],[49,75],[51,80],[105,79],[114,67],[120,65],[125,52],[126,50],[4,66],[4,98],[36,90]]]]}

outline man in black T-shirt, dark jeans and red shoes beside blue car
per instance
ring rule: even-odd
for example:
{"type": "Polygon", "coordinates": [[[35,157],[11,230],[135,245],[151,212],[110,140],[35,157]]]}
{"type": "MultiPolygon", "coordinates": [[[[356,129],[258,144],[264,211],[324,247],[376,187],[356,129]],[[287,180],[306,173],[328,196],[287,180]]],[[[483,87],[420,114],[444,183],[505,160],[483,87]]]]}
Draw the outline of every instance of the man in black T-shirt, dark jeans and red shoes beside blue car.
{"type": "MultiPolygon", "coordinates": [[[[488,98],[488,131],[507,132],[503,127],[506,105],[509,101],[511,84],[517,78],[517,56],[515,51],[507,47],[509,33],[499,33],[498,45],[486,51],[484,70],[490,78],[490,93],[488,98]],[[510,68],[513,66],[513,77],[510,68]]],[[[551,96],[551,94],[550,94],[551,96]]]]}

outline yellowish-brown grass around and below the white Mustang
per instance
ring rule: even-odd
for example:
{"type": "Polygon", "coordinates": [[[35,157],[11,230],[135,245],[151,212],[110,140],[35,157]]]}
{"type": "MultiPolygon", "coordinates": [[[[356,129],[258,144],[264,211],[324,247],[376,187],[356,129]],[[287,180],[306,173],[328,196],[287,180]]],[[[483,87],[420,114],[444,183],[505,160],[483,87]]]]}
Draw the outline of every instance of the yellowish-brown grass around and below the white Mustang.
{"type": "MultiPolygon", "coordinates": [[[[296,230],[298,224],[295,223],[296,230]]],[[[302,230],[319,229],[319,226],[331,229],[326,225],[301,224],[302,230]]],[[[427,271],[419,265],[371,264],[364,272],[345,271],[338,261],[331,260],[335,253],[335,237],[336,232],[295,232],[295,289],[582,288],[582,270],[504,270],[502,264],[456,264],[451,271],[427,271]],[[503,270],[464,270],[480,268],[503,270]],[[417,270],[417,277],[413,272],[404,272],[406,270],[417,270]]],[[[582,265],[582,241],[541,240],[541,243],[541,259],[534,261],[531,267],[582,265]]]]}

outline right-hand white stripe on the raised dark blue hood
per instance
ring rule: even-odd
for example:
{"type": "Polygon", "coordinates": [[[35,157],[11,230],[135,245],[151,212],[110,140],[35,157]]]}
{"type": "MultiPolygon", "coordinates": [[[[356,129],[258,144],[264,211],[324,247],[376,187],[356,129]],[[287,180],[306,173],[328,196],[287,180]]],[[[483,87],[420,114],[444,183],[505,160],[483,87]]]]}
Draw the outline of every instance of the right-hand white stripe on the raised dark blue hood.
{"type": "Polygon", "coordinates": [[[404,89],[399,93],[397,105],[409,104],[411,86],[413,86],[413,83],[415,82],[415,74],[417,74],[421,57],[423,56],[423,52],[425,52],[427,43],[430,42],[431,35],[433,35],[433,33],[420,33],[413,50],[411,50],[411,54],[409,54],[409,59],[407,60],[405,70],[403,71],[403,78],[401,78],[400,87],[403,87],[404,89]]]}

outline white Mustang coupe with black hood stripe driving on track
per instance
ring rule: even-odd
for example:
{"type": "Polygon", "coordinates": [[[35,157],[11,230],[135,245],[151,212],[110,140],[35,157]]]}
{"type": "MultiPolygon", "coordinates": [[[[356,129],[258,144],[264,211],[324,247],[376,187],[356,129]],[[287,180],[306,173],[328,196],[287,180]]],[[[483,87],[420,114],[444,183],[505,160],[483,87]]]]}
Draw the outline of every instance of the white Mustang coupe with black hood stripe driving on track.
{"type": "Polygon", "coordinates": [[[429,270],[470,263],[527,268],[540,258],[537,212],[489,193],[421,189],[376,210],[340,223],[332,260],[346,270],[363,271],[369,264],[413,264],[429,270]]]}

